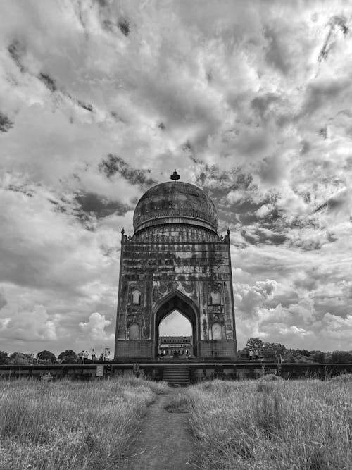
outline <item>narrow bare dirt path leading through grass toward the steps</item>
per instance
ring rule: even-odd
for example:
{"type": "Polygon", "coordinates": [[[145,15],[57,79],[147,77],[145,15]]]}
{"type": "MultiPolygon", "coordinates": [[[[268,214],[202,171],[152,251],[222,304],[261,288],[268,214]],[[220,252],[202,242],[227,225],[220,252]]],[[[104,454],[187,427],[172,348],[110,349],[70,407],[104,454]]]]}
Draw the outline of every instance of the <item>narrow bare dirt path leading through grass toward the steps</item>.
{"type": "Polygon", "coordinates": [[[134,443],[126,452],[122,470],[190,470],[189,454],[193,439],[189,432],[188,413],[168,413],[165,405],[175,395],[186,392],[170,388],[165,395],[158,395],[142,421],[134,443]]]}

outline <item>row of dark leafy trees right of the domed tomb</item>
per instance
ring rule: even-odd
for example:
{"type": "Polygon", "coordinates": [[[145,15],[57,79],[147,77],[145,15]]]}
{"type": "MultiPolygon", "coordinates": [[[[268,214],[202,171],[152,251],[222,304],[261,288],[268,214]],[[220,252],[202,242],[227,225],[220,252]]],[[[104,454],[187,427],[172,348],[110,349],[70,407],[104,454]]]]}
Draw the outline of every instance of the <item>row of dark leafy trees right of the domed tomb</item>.
{"type": "Polygon", "coordinates": [[[348,364],[352,363],[352,351],[322,352],[319,350],[300,350],[287,348],[279,342],[264,342],[260,338],[249,338],[246,347],[239,351],[239,357],[246,357],[249,350],[258,352],[260,359],[276,359],[280,362],[319,364],[348,364]]]}

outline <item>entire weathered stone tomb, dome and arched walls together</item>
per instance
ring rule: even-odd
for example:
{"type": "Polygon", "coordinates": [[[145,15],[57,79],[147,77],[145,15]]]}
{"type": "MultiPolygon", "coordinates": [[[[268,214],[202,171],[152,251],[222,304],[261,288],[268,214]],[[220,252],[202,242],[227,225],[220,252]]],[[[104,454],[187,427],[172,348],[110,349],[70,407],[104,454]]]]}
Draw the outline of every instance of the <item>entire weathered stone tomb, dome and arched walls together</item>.
{"type": "Polygon", "coordinates": [[[158,325],[174,309],[191,322],[198,359],[234,359],[230,233],[218,235],[215,206],[198,187],[154,188],[137,204],[133,237],[122,230],[115,359],[155,358],[158,325]]]}

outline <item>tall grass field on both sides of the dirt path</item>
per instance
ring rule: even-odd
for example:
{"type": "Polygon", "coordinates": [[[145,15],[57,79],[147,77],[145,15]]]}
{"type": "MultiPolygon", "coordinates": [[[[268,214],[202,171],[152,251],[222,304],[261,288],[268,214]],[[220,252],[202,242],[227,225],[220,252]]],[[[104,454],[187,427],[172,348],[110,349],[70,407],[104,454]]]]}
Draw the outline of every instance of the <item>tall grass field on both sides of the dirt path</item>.
{"type": "MultiPolygon", "coordinates": [[[[165,383],[0,381],[1,470],[118,468],[165,383]]],[[[195,469],[351,470],[352,380],[210,381],[168,397],[189,412],[195,469]]]]}

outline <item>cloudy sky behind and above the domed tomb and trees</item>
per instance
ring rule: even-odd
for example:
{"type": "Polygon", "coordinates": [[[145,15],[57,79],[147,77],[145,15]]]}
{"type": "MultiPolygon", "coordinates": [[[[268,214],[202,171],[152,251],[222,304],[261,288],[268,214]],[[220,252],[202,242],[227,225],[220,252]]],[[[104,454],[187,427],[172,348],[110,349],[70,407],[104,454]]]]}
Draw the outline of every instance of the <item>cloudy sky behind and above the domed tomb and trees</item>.
{"type": "Polygon", "coordinates": [[[352,350],[351,19],[1,1],[0,350],[113,350],[120,230],[175,168],[230,227],[238,346],[352,350]]]}

